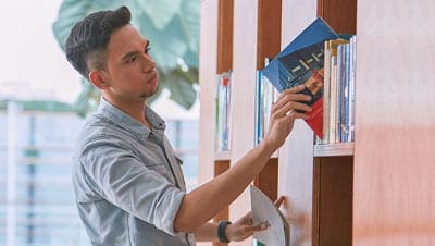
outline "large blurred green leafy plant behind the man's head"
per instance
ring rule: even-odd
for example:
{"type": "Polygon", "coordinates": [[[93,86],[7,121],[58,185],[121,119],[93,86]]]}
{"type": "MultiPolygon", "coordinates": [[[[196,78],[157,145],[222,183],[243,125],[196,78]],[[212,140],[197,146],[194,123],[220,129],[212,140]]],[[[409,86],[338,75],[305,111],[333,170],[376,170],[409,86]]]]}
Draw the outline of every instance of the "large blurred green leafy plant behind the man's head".
{"type": "MultiPolygon", "coordinates": [[[[132,24],[150,39],[150,53],[158,64],[159,90],[169,89],[170,98],[185,109],[191,108],[197,98],[198,83],[199,0],[64,0],[53,34],[64,50],[73,25],[87,14],[126,5],[132,11],[132,24]]],[[[100,95],[86,79],[74,107],[80,115],[94,110],[100,95]]]]}

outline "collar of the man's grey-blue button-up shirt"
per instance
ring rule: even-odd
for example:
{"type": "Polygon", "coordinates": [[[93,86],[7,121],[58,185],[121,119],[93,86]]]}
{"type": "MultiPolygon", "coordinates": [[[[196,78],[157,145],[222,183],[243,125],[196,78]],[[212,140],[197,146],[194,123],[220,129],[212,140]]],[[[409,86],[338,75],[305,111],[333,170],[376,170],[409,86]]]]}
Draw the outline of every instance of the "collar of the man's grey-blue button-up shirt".
{"type": "MultiPolygon", "coordinates": [[[[108,100],[101,97],[100,106],[98,107],[97,113],[100,113],[112,121],[114,124],[132,132],[135,136],[145,139],[150,134],[150,130],[144,124],[138,122],[136,119],[126,114],[115,106],[111,104],[108,100]]],[[[159,134],[163,134],[166,128],[166,124],[162,118],[159,116],[151,108],[146,106],[145,115],[148,122],[151,124],[152,131],[159,134]]]]}

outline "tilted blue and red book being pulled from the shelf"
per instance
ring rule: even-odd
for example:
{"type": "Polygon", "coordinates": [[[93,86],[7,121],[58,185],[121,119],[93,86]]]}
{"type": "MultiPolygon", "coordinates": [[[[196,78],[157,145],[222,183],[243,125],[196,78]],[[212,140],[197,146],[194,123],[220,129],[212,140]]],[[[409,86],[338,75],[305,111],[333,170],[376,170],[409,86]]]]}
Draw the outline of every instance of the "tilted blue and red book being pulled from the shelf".
{"type": "Polygon", "coordinates": [[[264,67],[263,75],[281,93],[306,85],[303,94],[310,95],[308,102],[312,111],[307,114],[308,125],[315,135],[323,137],[323,75],[324,41],[339,36],[321,17],[315,19],[290,44],[264,67]]]}

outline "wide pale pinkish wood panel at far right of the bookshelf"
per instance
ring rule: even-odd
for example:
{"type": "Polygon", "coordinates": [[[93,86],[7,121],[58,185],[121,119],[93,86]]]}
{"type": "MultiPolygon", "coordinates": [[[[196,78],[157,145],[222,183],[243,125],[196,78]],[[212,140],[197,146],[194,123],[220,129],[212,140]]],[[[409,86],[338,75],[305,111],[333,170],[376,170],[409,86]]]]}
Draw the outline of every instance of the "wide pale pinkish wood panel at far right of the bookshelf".
{"type": "Polygon", "coordinates": [[[434,8],[358,2],[353,245],[435,245],[434,8]]]}

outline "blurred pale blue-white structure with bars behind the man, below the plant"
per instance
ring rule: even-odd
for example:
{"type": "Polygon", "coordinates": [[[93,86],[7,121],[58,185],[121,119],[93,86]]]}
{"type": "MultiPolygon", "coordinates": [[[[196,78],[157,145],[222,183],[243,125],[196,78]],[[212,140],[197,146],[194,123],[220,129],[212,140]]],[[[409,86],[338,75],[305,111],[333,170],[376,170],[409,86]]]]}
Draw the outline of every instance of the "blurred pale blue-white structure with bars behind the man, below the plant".
{"type": "MultiPolygon", "coordinates": [[[[74,112],[0,109],[0,246],[89,245],[74,202],[74,112]]],[[[188,189],[197,184],[198,121],[166,121],[188,189]]]]}

